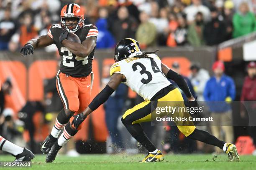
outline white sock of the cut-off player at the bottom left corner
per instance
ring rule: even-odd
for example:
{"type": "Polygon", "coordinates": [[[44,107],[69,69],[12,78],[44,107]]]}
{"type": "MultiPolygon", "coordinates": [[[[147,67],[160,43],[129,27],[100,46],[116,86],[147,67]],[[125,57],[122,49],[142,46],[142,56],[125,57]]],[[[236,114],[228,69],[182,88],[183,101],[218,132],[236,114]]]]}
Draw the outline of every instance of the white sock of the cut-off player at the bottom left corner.
{"type": "Polygon", "coordinates": [[[15,145],[14,143],[11,143],[10,141],[0,136],[0,150],[3,150],[16,156],[20,153],[23,153],[24,148],[21,148],[20,146],[15,145]]]}

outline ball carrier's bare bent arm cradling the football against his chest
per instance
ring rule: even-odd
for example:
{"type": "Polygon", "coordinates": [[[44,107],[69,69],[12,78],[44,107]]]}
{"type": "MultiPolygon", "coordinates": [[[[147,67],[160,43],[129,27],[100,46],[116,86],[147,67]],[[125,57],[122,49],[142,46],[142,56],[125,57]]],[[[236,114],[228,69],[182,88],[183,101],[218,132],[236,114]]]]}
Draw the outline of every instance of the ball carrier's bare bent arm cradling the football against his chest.
{"type": "Polygon", "coordinates": [[[72,42],[70,40],[64,39],[61,43],[67,47],[74,55],[79,57],[87,57],[94,47],[96,46],[97,38],[95,36],[86,38],[82,44],[77,42],[72,42]]]}

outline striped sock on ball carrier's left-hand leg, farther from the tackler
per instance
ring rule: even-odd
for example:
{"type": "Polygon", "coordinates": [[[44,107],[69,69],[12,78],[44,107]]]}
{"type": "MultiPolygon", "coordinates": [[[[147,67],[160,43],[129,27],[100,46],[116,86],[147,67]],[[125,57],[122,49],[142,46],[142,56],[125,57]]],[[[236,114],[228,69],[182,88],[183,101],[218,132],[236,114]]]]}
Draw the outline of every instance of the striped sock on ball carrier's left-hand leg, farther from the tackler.
{"type": "Polygon", "coordinates": [[[52,130],[51,130],[51,135],[54,138],[59,137],[59,133],[61,132],[61,129],[63,129],[65,125],[67,125],[67,122],[69,122],[69,119],[70,117],[68,117],[64,109],[62,109],[55,120],[54,127],[52,127],[52,130]]]}

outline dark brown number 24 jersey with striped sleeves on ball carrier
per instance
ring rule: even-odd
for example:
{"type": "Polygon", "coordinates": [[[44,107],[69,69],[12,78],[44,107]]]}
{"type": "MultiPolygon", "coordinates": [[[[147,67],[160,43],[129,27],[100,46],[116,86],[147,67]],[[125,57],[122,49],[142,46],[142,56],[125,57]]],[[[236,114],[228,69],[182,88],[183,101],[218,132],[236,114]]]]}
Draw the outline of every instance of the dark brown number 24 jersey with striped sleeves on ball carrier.
{"type": "MultiPolygon", "coordinates": [[[[95,48],[87,57],[74,55],[67,47],[59,42],[59,36],[63,31],[65,30],[62,29],[61,25],[55,24],[51,26],[47,33],[47,35],[54,40],[54,44],[59,50],[59,55],[61,56],[60,71],[72,77],[86,77],[90,75],[92,72],[92,60],[95,48]]],[[[98,30],[94,25],[90,24],[84,25],[74,33],[80,38],[81,42],[83,42],[88,37],[97,37],[98,30]]]]}

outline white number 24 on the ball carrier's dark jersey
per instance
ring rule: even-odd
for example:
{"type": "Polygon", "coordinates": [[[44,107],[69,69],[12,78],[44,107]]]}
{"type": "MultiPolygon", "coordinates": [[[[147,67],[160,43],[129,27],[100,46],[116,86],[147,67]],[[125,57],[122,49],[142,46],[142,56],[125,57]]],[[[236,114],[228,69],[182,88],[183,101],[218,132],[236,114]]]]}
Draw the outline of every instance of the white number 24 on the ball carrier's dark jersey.
{"type": "Polygon", "coordinates": [[[88,63],[88,57],[79,57],[77,55],[73,55],[67,47],[61,47],[62,53],[67,53],[68,55],[63,54],[63,65],[66,67],[74,67],[74,61],[67,61],[68,60],[77,60],[77,61],[83,61],[82,65],[86,65],[88,63]]]}

